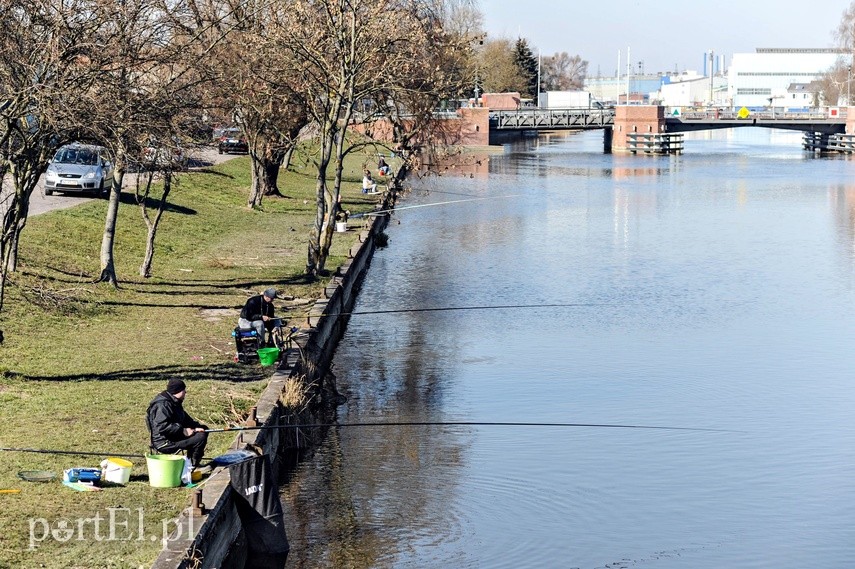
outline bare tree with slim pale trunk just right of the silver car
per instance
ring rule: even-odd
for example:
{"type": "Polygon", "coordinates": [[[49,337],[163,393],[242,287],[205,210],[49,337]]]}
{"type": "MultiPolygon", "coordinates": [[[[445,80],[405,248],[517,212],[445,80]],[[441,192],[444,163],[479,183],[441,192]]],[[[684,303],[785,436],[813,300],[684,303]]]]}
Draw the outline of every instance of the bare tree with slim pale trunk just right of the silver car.
{"type": "MultiPolygon", "coordinates": [[[[206,56],[240,20],[227,2],[216,0],[98,5],[110,17],[100,33],[101,73],[92,97],[97,120],[90,128],[114,157],[98,280],[117,286],[113,249],[125,174],[152,140],[168,145],[183,135],[188,110],[199,107],[201,90],[211,80],[206,56]]],[[[149,246],[153,239],[150,231],[149,246]]]]}

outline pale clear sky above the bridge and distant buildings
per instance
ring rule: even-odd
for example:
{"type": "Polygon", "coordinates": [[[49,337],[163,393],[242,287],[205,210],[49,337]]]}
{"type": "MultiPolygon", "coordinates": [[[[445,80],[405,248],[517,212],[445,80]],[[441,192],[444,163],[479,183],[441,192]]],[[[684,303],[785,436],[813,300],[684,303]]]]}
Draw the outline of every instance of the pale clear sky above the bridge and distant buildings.
{"type": "Polygon", "coordinates": [[[726,62],[758,47],[833,47],[855,0],[478,0],[489,37],[526,38],[537,55],[566,51],[588,74],[703,71],[713,50],[726,62]]]}

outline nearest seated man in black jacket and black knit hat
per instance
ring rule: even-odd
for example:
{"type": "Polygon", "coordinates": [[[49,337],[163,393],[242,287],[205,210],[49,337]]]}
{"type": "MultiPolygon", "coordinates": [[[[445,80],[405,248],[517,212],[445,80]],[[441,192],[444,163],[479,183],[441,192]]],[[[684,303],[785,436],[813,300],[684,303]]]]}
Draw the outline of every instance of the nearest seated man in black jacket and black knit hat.
{"type": "Polygon", "coordinates": [[[164,454],[187,451],[193,467],[199,466],[208,443],[208,427],[184,411],[187,387],[180,379],[170,379],[148,406],[146,422],[151,433],[151,448],[164,454]]]}

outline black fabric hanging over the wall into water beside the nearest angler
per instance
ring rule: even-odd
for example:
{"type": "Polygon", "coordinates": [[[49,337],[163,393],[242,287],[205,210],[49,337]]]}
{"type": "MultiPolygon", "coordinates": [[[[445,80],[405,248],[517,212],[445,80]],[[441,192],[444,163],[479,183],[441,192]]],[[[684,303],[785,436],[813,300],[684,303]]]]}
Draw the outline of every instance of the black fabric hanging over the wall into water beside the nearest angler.
{"type": "Polygon", "coordinates": [[[247,564],[253,569],[281,569],[290,549],[285,535],[279,489],[266,455],[229,466],[235,505],[247,540],[247,564]]]}

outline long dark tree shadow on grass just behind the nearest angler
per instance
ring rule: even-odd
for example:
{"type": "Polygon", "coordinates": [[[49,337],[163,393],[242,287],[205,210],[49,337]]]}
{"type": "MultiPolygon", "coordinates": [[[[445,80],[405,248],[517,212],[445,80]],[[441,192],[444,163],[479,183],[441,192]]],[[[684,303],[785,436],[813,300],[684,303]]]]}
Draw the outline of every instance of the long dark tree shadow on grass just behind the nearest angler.
{"type": "Polygon", "coordinates": [[[220,363],[205,366],[168,365],[143,369],[127,369],[109,373],[77,373],[68,375],[23,375],[16,374],[27,381],[159,381],[166,382],[173,377],[184,381],[230,381],[246,383],[264,379],[270,375],[269,368],[259,365],[220,363]]]}

